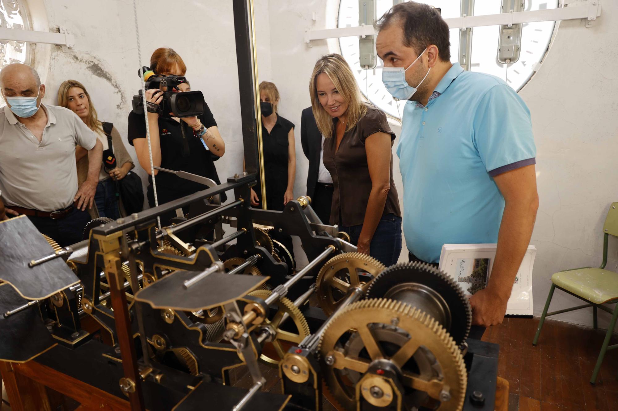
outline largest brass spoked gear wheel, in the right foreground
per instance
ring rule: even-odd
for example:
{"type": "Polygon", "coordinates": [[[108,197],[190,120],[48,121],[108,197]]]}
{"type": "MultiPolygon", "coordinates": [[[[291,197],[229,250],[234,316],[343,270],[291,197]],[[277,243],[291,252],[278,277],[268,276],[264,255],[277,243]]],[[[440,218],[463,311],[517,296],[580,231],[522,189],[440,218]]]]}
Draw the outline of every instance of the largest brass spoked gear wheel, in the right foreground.
{"type": "MultiPolygon", "coordinates": [[[[426,313],[400,301],[370,299],[351,304],[337,315],[321,336],[318,351],[322,359],[328,357],[332,365],[324,365],[326,386],[347,410],[356,409],[355,386],[345,378],[350,371],[364,374],[375,360],[389,360],[402,372],[405,397],[423,394],[442,411],[459,411],[464,406],[467,375],[461,351],[444,328],[426,313]],[[383,344],[376,338],[373,327],[392,325],[407,333],[403,345],[383,344]],[[365,349],[360,357],[348,356],[345,341],[350,328],[358,330],[365,349]],[[423,349],[438,368],[437,376],[428,379],[415,371],[414,356],[423,349]],[[342,376],[344,378],[342,378],[342,376]],[[449,400],[440,397],[448,393],[449,400]]],[[[414,398],[414,397],[413,397],[414,398]]],[[[416,397],[418,398],[418,397],[416,397]]],[[[410,404],[418,407],[421,404],[410,404]]]]}

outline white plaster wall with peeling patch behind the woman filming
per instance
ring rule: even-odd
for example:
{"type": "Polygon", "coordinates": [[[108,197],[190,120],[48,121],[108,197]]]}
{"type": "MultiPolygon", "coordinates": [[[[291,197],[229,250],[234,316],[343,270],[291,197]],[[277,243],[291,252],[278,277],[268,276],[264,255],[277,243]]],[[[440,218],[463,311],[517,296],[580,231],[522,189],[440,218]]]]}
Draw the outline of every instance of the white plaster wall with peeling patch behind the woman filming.
{"type": "MultiPolygon", "coordinates": [[[[46,87],[45,102],[57,104],[57,89],[72,78],[88,88],[99,119],[127,133],[131,100],[140,87],[137,70],[148,65],[158,47],[171,47],[187,64],[193,89],[204,93],[219,131],[226,141],[226,154],[216,162],[219,177],[242,172],[242,135],[239,85],[234,48],[231,1],[137,0],[142,56],[138,56],[132,1],[30,0],[35,30],[66,28],[75,35],[75,46],[37,44],[35,66],[46,87]],[[45,21],[46,20],[46,21],[45,21]]],[[[256,1],[255,19],[260,77],[271,78],[268,2],[256,1]]],[[[146,173],[138,166],[135,150],[125,140],[144,183],[146,173]]]]}

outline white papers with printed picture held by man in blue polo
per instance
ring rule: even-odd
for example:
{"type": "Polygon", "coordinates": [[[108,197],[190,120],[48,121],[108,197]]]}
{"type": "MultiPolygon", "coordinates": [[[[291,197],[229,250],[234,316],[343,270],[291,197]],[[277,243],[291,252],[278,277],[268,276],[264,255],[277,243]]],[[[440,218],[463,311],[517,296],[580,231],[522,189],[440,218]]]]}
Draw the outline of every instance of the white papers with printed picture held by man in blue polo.
{"type": "MultiPolygon", "coordinates": [[[[532,315],[532,268],[536,247],[528,246],[513,283],[507,315],[532,315]]],[[[487,286],[496,244],[444,244],[439,269],[454,278],[468,296],[487,286]]]]}

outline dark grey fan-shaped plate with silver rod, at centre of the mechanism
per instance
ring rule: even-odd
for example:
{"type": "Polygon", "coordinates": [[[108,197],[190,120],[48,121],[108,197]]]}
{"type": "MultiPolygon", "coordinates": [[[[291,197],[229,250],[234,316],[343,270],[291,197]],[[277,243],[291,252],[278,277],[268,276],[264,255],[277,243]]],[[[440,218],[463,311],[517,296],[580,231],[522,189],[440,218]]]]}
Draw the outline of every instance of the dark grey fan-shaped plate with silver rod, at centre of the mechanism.
{"type": "Polygon", "coordinates": [[[212,273],[185,288],[184,282],[200,273],[200,271],[179,270],[138,291],[135,300],[147,302],[154,309],[205,310],[235,301],[266,283],[270,278],[212,273]]]}

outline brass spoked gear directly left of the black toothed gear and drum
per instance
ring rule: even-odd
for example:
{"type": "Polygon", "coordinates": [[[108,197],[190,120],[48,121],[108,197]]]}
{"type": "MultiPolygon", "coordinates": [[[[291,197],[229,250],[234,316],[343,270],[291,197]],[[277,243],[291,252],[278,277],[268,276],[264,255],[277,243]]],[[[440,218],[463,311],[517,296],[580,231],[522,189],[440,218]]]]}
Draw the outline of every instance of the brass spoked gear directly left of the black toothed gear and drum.
{"type": "Polygon", "coordinates": [[[359,272],[369,273],[376,278],[385,269],[381,262],[361,252],[344,252],[332,257],[324,264],[316,280],[320,307],[326,315],[331,315],[350,288],[360,286],[366,291],[371,284],[371,281],[363,283],[359,272]]]}

